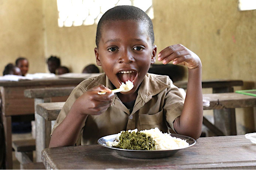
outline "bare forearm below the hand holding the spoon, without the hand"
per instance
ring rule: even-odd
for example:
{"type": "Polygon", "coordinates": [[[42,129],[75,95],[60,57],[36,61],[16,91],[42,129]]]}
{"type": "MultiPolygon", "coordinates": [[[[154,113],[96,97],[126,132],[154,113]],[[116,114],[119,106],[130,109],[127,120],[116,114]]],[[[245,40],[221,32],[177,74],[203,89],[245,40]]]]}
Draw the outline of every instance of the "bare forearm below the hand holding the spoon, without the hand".
{"type": "Polygon", "coordinates": [[[87,116],[77,113],[73,105],[65,119],[53,131],[49,147],[74,146],[87,116]]]}

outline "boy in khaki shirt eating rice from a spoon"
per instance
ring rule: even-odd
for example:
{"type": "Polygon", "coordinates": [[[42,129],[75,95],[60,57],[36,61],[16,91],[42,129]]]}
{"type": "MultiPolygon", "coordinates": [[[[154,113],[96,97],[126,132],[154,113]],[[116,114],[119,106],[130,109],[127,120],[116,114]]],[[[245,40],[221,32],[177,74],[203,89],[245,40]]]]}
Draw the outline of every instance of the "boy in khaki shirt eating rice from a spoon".
{"type": "Polygon", "coordinates": [[[153,24],[134,6],[116,6],[97,26],[94,49],[104,74],[81,82],[65,103],[53,127],[49,147],[97,144],[97,139],[121,130],[158,127],[197,139],[203,121],[201,62],[182,45],[171,45],[158,54],[163,64],[174,61],[188,67],[184,100],[168,76],[149,74],[156,60],[153,24]],[[114,94],[121,82],[134,87],[114,94]],[[99,95],[98,92],[106,92],[99,95]]]}

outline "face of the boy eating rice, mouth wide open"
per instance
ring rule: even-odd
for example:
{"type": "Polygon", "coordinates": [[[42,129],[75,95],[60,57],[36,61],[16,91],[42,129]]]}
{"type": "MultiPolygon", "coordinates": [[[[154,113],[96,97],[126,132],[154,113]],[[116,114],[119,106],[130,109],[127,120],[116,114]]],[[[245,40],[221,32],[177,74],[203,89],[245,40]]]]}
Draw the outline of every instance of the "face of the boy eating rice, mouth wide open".
{"type": "Polygon", "coordinates": [[[134,88],[124,94],[132,94],[138,89],[150,64],[156,61],[156,45],[152,45],[145,26],[133,20],[105,24],[94,52],[97,65],[102,66],[116,88],[122,82],[133,82],[134,88]]]}

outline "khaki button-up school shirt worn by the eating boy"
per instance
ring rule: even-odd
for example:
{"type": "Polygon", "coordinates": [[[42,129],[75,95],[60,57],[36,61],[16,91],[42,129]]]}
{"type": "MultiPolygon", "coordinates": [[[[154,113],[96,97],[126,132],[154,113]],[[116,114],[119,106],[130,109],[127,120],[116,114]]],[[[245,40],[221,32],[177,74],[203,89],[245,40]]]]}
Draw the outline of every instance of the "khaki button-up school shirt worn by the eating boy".
{"type": "MultiPolygon", "coordinates": [[[[101,74],[86,79],[72,91],[59,113],[55,128],[65,119],[75,100],[85,91],[103,84],[113,89],[112,84],[101,74]]],[[[158,127],[162,132],[174,133],[174,120],[180,116],[184,104],[182,94],[168,76],[147,73],[142,81],[132,113],[115,94],[114,103],[100,115],[89,115],[77,139],[79,144],[97,144],[103,136],[120,133],[121,130],[145,130],[158,127]]]]}

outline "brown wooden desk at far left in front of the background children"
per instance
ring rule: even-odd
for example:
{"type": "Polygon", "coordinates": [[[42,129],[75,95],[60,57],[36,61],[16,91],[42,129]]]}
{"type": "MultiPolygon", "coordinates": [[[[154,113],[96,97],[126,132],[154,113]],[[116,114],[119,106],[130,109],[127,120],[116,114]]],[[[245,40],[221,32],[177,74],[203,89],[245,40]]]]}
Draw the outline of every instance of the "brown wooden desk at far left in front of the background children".
{"type": "MultiPolygon", "coordinates": [[[[0,81],[1,112],[6,144],[6,169],[12,169],[12,116],[35,113],[34,100],[24,96],[28,88],[77,86],[84,78],[49,78],[19,82],[0,81]]],[[[65,101],[53,99],[54,101],[65,101]]]]}

